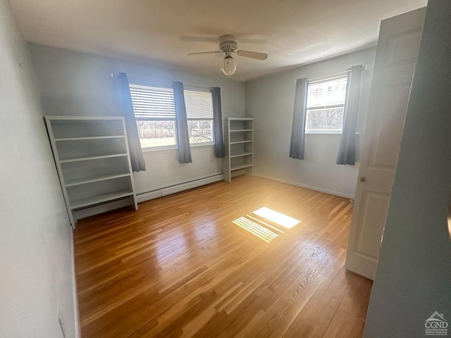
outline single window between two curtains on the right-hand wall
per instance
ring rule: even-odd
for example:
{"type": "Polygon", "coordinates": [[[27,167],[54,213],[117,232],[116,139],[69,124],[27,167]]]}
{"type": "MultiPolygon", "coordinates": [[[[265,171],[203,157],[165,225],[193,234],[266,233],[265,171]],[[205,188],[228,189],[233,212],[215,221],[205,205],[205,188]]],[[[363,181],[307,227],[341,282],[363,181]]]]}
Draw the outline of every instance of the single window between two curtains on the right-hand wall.
{"type": "Polygon", "coordinates": [[[347,77],[309,83],[306,132],[341,132],[347,77]]]}

